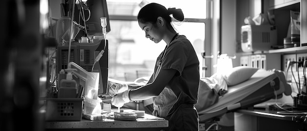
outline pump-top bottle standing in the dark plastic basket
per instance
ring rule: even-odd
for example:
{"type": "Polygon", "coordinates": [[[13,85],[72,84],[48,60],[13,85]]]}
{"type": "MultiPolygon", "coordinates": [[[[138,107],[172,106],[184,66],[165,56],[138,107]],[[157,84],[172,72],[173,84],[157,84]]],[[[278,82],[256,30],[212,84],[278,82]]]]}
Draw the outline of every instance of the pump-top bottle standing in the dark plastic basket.
{"type": "Polygon", "coordinates": [[[65,69],[67,72],[66,79],[60,81],[58,89],[58,98],[76,98],[77,82],[73,80],[72,71],[77,69],[65,69]]]}

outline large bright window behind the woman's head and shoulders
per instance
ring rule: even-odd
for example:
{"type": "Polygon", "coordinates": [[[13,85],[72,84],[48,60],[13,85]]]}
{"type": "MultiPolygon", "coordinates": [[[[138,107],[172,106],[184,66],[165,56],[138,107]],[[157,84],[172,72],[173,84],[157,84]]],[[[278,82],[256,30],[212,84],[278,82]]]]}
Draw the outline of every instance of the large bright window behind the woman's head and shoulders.
{"type": "Polygon", "coordinates": [[[173,6],[182,9],[185,22],[175,22],[173,25],[180,35],[185,35],[193,44],[202,75],[202,52],[205,49],[207,27],[205,0],[190,0],[190,4],[197,3],[191,6],[186,6],[186,0],[107,0],[111,26],[106,36],[110,53],[109,78],[134,81],[140,77],[137,74],[140,70],[147,71],[147,74],[143,74],[145,76],[153,73],[155,60],[166,44],[164,41],[155,44],[145,38],[145,32],[138,25],[137,13],[142,5],[149,2],[160,3],[166,8],[173,6]]]}

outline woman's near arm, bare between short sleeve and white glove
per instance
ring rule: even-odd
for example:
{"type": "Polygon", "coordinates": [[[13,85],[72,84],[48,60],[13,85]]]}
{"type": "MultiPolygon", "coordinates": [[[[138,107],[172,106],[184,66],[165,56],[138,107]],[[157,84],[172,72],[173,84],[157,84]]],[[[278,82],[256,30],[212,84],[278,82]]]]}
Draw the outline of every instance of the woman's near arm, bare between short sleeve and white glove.
{"type": "Polygon", "coordinates": [[[175,69],[161,69],[157,78],[151,84],[130,90],[130,99],[133,101],[139,101],[158,96],[164,87],[173,78],[176,71],[177,70],[175,69]]]}

